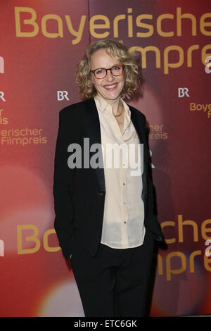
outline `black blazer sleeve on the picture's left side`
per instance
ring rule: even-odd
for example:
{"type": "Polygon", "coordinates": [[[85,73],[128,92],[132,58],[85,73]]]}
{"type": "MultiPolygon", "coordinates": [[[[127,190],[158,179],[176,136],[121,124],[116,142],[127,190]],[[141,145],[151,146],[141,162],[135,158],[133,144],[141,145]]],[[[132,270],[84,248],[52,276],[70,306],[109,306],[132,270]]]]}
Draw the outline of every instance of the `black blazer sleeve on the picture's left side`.
{"type": "Polygon", "coordinates": [[[59,113],[53,175],[54,227],[66,259],[70,257],[74,244],[72,193],[75,175],[75,169],[68,167],[68,145],[74,141],[74,130],[71,128],[73,123],[68,120],[67,115],[68,111],[65,109],[59,113]]]}

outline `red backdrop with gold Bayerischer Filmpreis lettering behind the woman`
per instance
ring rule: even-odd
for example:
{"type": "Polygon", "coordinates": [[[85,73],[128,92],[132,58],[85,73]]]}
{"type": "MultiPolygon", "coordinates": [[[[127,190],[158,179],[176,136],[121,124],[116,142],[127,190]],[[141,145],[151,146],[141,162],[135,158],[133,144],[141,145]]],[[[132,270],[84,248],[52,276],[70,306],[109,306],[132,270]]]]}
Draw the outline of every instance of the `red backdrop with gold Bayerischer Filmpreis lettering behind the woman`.
{"type": "Polygon", "coordinates": [[[98,39],[136,50],[159,248],[151,316],[211,313],[210,0],[0,1],[0,316],[84,316],[53,229],[60,109],[98,39]]]}

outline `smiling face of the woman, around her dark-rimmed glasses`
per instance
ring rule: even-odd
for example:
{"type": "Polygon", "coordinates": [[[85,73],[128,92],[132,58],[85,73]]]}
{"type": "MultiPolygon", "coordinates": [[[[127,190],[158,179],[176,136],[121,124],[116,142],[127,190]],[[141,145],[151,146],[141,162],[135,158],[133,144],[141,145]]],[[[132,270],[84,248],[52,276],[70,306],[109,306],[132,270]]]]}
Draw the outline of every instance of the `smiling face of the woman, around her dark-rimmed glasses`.
{"type": "MultiPolygon", "coordinates": [[[[117,59],[111,58],[105,49],[99,49],[91,56],[91,70],[98,68],[111,68],[113,65],[121,64],[117,59]]],[[[120,76],[113,76],[110,70],[103,79],[97,79],[94,73],[91,73],[91,80],[94,83],[98,96],[106,100],[108,104],[119,101],[122,89],[124,87],[124,73],[120,76]]]]}

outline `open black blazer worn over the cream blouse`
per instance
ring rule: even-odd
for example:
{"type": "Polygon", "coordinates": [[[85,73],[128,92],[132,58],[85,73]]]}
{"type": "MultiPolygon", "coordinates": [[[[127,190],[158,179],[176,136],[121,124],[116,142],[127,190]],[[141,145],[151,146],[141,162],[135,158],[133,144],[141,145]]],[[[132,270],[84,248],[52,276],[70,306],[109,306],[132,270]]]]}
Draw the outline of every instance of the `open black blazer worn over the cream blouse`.
{"type": "MultiPolygon", "coordinates": [[[[129,109],[140,143],[144,144],[143,192],[140,196],[145,207],[144,224],[153,237],[161,241],[162,232],[153,212],[153,184],[146,144],[146,117],[132,106],[129,106],[129,109]]],[[[65,258],[72,254],[76,239],[91,256],[96,254],[101,242],[106,196],[104,170],[100,167],[83,168],[84,137],[89,138],[89,146],[94,143],[101,144],[101,127],[94,99],[73,104],[59,113],[53,176],[56,215],[54,226],[65,258]],[[82,168],[68,167],[68,146],[72,143],[82,147],[82,168]]],[[[90,158],[95,153],[90,152],[90,158]]]]}

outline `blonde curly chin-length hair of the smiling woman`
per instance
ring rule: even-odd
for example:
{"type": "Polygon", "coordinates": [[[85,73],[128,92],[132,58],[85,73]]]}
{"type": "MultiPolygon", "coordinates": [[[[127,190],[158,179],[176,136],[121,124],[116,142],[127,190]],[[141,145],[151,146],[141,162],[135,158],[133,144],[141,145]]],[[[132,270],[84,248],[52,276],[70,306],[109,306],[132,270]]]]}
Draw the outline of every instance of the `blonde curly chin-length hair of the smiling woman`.
{"type": "Polygon", "coordinates": [[[139,90],[139,68],[134,54],[129,53],[126,46],[112,39],[99,40],[89,46],[84,57],[79,61],[76,71],[76,80],[79,90],[86,99],[96,95],[96,89],[91,80],[91,56],[99,49],[105,49],[111,57],[117,58],[124,65],[124,87],[121,96],[131,96],[139,90]]]}

